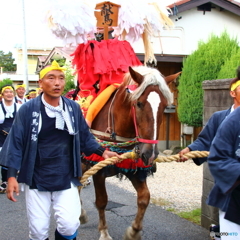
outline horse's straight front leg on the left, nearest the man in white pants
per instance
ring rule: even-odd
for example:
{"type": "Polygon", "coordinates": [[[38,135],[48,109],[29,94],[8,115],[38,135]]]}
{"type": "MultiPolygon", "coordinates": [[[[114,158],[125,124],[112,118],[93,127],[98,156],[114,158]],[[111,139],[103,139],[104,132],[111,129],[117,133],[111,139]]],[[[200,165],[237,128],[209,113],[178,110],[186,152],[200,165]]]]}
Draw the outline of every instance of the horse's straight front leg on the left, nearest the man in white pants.
{"type": "Polygon", "coordinates": [[[108,202],[108,196],[105,185],[105,177],[100,174],[93,175],[93,183],[96,195],[96,208],[99,214],[98,230],[100,232],[99,240],[112,240],[108,233],[108,227],[106,223],[105,208],[108,202]]]}

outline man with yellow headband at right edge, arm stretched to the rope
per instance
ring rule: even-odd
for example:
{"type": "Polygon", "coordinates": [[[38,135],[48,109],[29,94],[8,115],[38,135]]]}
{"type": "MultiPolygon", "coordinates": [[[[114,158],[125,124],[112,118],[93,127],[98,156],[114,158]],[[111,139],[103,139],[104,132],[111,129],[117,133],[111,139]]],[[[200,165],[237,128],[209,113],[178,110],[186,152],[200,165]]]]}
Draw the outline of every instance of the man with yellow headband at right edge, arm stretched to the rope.
{"type": "MultiPolygon", "coordinates": [[[[233,99],[233,105],[226,110],[215,112],[210,119],[208,120],[207,124],[203,128],[203,130],[198,135],[197,139],[182,151],[179,152],[180,155],[180,162],[184,162],[187,160],[184,157],[184,154],[190,151],[209,151],[212,141],[217,133],[217,130],[223,120],[227,118],[227,116],[234,111],[237,107],[240,106],[240,85],[236,84],[240,79],[240,67],[237,69],[236,78],[234,78],[229,85],[230,96],[233,99]]],[[[207,161],[207,158],[194,158],[194,163],[196,165],[201,165],[202,163],[207,161]]],[[[220,232],[220,227],[217,225],[211,225],[210,231],[220,232]]],[[[215,240],[220,239],[220,236],[215,237],[215,240]]]]}

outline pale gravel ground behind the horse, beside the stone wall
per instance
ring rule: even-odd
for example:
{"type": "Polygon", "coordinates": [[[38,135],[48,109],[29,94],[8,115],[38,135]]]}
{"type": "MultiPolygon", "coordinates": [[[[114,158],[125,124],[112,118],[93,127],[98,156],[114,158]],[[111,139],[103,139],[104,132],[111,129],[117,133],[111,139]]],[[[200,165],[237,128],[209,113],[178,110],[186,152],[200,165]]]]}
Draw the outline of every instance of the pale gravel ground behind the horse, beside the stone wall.
{"type": "MultiPolygon", "coordinates": [[[[203,166],[191,159],[184,162],[157,163],[157,172],[147,178],[151,202],[176,212],[201,207],[203,166]]],[[[131,182],[116,177],[107,178],[130,192],[135,192],[131,182]]]]}

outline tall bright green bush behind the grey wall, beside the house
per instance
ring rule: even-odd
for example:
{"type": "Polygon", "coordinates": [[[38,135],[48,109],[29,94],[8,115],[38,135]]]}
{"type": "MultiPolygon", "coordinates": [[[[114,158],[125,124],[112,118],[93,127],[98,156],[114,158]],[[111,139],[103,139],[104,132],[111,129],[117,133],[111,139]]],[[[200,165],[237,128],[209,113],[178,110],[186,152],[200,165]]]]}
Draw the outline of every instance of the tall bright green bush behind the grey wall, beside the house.
{"type": "Polygon", "coordinates": [[[220,37],[211,35],[206,43],[200,41],[198,49],[184,60],[178,86],[180,122],[195,127],[202,126],[202,82],[217,79],[221,67],[237,49],[237,40],[223,32],[220,37]]]}

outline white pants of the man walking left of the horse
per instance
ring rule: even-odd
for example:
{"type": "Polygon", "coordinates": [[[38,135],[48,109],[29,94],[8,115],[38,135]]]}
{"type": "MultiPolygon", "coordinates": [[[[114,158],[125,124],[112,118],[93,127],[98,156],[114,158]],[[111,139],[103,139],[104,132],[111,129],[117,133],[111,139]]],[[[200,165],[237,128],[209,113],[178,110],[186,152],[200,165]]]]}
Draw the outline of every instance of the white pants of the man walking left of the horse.
{"type": "Polygon", "coordinates": [[[29,189],[29,186],[25,185],[25,197],[30,239],[48,238],[51,207],[61,235],[71,236],[80,226],[81,203],[75,185],[71,184],[70,189],[56,192],[29,189]]]}

